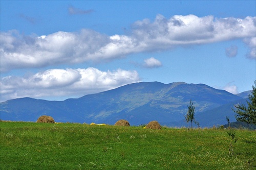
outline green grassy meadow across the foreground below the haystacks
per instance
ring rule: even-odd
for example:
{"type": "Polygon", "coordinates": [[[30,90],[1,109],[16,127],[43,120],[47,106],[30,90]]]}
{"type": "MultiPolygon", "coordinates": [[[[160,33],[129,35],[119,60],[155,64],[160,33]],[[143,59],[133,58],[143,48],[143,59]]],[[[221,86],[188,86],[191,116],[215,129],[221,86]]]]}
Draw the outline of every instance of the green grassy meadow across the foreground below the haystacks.
{"type": "Polygon", "coordinates": [[[0,122],[0,169],[255,169],[256,132],[0,122]],[[229,154],[232,142],[233,154],[229,154]]]}

